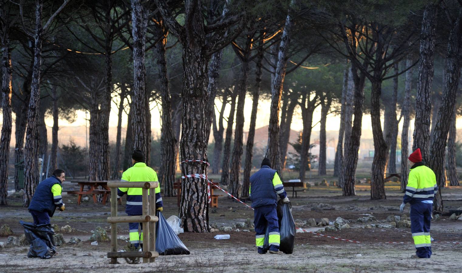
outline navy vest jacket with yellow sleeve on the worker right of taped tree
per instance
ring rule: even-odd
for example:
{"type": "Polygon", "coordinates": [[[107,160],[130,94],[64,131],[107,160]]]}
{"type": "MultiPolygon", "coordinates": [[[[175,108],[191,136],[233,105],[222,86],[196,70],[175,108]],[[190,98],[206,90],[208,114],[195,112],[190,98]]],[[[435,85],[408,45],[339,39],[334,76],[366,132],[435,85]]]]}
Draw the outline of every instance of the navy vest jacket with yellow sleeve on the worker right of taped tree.
{"type": "Polygon", "coordinates": [[[250,177],[250,199],[252,200],[252,208],[276,205],[278,195],[281,198],[286,197],[286,191],[282,186],[276,170],[263,165],[258,172],[255,172],[250,177]],[[277,193],[276,193],[277,192],[277,193]]]}

